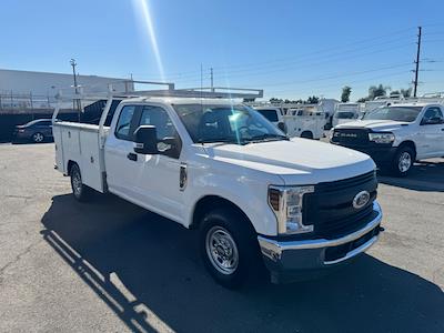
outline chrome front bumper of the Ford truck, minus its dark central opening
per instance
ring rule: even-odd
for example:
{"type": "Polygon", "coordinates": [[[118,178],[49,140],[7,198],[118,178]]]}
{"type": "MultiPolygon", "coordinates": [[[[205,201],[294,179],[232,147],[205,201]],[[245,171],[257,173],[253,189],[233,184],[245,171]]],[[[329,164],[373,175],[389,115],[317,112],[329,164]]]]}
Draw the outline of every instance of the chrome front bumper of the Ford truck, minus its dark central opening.
{"type": "Polygon", "coordinates": [[[270,271],[284,272],[297,270],[316,270],[347,261],[366,251],[377,241],[377,232],[363,244],[346,252],[342,258],[326,260],[325,251],[329,248],[340,246],[359,240],[360,238],[380,229],[382,211],[379,203],[373,203],[375,218],[362,229],[335,240],[303,240],[303,241],[276,241],[266,236],[258,236],[261,252],[270,271]]]}

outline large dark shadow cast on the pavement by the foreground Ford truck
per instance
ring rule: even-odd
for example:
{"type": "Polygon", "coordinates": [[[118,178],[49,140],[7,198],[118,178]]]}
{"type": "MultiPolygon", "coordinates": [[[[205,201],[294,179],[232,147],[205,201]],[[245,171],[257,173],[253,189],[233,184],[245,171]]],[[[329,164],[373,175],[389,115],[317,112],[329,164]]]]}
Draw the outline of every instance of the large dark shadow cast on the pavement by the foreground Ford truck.
{"type": "Polygon", "coordinates": [[[444,293],[363,255],[331,275],[229,291],[204,272],[196,234],[114,196],[52,199],[42,236],[134,332],[443,332],[444,293]]]}

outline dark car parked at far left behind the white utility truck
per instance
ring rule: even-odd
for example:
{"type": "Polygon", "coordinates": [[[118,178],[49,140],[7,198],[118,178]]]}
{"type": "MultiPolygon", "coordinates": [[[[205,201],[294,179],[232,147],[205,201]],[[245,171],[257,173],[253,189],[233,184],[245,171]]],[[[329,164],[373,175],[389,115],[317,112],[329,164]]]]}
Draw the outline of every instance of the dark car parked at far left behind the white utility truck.
{"type": "Polygon", "coordinates": [[[13,141],[31,141],[36,143],[52,141],[51,119],[38,119],[22,125],[17,125],[13,132],[13,141]]]}

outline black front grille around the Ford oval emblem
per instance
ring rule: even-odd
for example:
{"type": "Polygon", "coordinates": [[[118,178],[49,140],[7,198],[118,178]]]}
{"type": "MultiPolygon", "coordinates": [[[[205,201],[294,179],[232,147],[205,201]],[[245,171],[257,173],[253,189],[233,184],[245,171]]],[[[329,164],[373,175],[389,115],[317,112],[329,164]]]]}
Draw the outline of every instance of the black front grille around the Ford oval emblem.
{"type": "Polygon", "coordinates": [[[304,195],[303,223],[314,226],[319,238],[334,239],[361,229],[373,215],[377,180],[372,171],[359,176],[319,183],[313,193],[304,195]],[[371,195],[366,205],[353,206],[357,193],[367,191],[371,195]]]}

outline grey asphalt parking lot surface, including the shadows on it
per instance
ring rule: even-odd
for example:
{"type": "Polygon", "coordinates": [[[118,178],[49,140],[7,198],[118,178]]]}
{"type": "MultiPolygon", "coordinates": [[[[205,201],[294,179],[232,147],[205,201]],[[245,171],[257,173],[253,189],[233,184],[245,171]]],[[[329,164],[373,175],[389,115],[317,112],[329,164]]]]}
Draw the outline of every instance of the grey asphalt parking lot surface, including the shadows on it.
{"type": "Polygon", "coordinates": [[[193,232],[111,195],[75,202],[51,143],[0,144],[0,332],[444,332],[444,160],[380,182],[367,254],[228,291],[193,232]]]}

